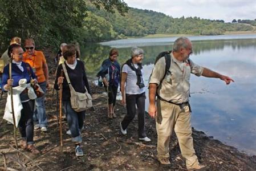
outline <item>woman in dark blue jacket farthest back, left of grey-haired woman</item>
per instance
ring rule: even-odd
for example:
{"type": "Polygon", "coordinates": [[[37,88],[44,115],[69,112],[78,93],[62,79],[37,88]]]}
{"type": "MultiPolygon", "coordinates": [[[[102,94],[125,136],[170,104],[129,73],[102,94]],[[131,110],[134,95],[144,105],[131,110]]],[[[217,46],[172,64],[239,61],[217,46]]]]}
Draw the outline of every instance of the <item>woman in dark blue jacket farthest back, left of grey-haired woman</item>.
{"type": "Polygon", "coordinates": [[[104,87],[108,92],[108,118],[116,118],[114,108],[120,82],[120,65],[117,62],[118,55],[118,50],[112,48],[109,52],[109,58],[103,61],[100,67],[101,70],[97,74],[103,80],[104,87]]]}

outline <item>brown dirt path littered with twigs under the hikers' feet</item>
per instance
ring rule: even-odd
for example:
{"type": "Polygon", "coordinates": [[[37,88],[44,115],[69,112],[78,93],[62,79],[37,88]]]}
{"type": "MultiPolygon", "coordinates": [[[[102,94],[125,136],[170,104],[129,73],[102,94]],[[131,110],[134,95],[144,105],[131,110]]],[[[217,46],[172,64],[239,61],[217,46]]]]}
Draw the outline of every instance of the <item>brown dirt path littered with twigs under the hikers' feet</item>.
{"type": "MultiPolygon", "coordinates": [[[[54,76],[51,75],[51,88],[53,79],[54,76]]],[[[149,143],[141,143],[137,140],[137,118],[129,125],[127,135],[121,135],[119,123],[124,117],[126,109],[117,102],[117,118],[108,119],[106,114],[107,96],[104,94],[104,89],[94,85],[91,87],[95,111],[86,112],[84,131],[82,132],[82,148],[85,154],[83,157],[75,156],[75,146],[71,143],[71,137],[66,135],[68,126],[64,119],[64,146],[63,152],[59,152],[59,127],[55,117],[58,114],[56,112],[56,93],[52,95],[52,89],[48,91],[46,98],[48,132],[34,132],[35,145],[42,151],[42,154],[36,156],[21,148],[19,150],[31,157],[43,170],[186,170],[185,161],[181,156],[175,136],[170,142],[170,161],[172,164],[169,166],[160,165],[156,160],[155,121],[147,115],[146,129],[152,140],[149,143]]],[[[6,165],[9,168],[39,170],[23,154],[19,154],[17,157],[17,152],[9,146],[14,145],[13,127],[7,125],[6,121],[2,119],[5,99],[6,95],[0,101],[2,106],[0,109],[0,152],[2,154],[0,170],[5,163],[3,154],[6,156],[6,165]]],[[[231,146],[211,139],[204,132],[193,130],[193,138],[197,156],[202,164],[209,166],[209,170],[256,170],[256,156],[247,156],[238,152],[231,146]]]]}

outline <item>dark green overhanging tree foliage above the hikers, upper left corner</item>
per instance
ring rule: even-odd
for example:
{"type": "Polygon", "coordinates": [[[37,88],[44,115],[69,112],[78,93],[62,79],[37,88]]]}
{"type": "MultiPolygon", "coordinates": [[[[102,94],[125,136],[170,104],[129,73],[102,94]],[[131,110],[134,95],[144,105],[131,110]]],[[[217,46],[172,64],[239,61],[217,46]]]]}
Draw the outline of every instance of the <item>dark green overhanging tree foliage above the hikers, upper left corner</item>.
{"type": "Polygon", "coordinates": [[[0,0],[0,50],[6,49],[13,36],[34,38],[43,47],[82,43],[86,38],[80,35],[90,2],[111,13],[128,10],[127,4],[119,0],[0,0]]]}

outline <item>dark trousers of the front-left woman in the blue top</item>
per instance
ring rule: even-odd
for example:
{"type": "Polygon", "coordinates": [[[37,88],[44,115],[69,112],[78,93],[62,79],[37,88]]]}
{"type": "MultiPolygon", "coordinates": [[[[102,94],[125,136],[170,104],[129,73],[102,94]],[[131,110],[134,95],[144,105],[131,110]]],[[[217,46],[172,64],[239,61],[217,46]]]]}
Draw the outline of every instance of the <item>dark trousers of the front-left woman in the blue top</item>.
{"type": "Polygon", "coordinates": [[[35,100],[22,103],[23,109],[21,110],[21,119],[19,120],[19,132],[21,136],[27,140],[27,144],[34,144],[34,104],[35,100]]]}

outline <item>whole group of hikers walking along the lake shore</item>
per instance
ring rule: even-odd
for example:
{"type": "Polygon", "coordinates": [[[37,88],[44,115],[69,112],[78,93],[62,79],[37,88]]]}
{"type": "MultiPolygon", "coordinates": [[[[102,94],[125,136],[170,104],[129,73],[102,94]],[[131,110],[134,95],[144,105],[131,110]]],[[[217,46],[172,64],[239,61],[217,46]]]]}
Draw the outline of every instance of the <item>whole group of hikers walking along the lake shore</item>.
{"type": "MultiPolygon", "coordinates": [[[[20,38],[13,38],[8,50],[2,55],[2,59],[7,59],[2,74],[2,91],[9,91],[10,88],[18,89],[19,103],[21,105],[21,118],[18,128],[22,136],[21,148],[27,149],[33,154],[39,154],[33,141],[34,129],[43,132],[47,131],[47,118],[44,106],[46,88],[48,87],[48,67],[42,51],[35,50],[35,42],[26,39],[23,44],[25,52],[21,46],[20,38]],[[8,64],[8,59],[11,64],[8,64]],[[11,72],[9,71],[11,68],[11,72]],[[32,83],[32,84],[31,84],[32,83]],[[44,95],[36,97],[31,89],[31,85],[38,84],[42,88],[44,95]],[[22,88],[21,88],[22,87],[22,88]],[[25,87],[25,88],[23,88],[25,87]],[[34,109],[35,103],[35,109],[34,109]]],[[[174,41],[173,50],[162,52],[156,59],[155,66],[149,78],[149,108],[148,113],[156,119],[157,131],[157,160],[161,164],[168,165],[169,161],[169,140],[172,131],[177,135],[181,154],[186,160],[188,170],[202,170],[206,166],[198,162],[192,138],[191,108],[189,105],[190,95],[190,73],[196,76],[208,78],[219,78],[226,84],[234,82],[228,76],[218,74],[208,68],[201,67],[194,63],[189,56],[192,54],[192,43],[186,37],[180,37],[174,41]]],[[[63,43],[57,55],[58,68],[54,88],[62,91],[63,111],[66,114],[69,130],[68,135],[72,136],[75,144],[76,156],[83,156],[81,132],[85,111],[74,109],[71,101],[72,90],[79,93],[89,93],[88,83],[84,63],[79,60],[79,48],[74,44],[63,43]],[[60,61],[60,62],[59,62],[60,61]],[[64,74],[63,74],[64,71],[64,74]]],[[[108,94],[109,119],[116,118],[115,104],[118,87],[121,91],[121,104],[126,106],[127,113],[120,121],[120,133],[127,134],[129,123],[134,119],[136,113],[138,117],[138,139],[149,142],[145,130],[145,90],[146,83],[143,76],[144,51],[139,47],[132,47],[131,58],[122,66],[117,62],[119,51],[112,48],[108,59],[101,64],[97,73],[99,83],[103,83],[108,94]]],[[[100,84],[99,84],[100,85],[100,84]]],[[[8,96],[9,93],[8,93],[8,96]]],[[[6,110],[7,111],[7,104],[6,110]]],[[[18,103],[18,100],[15,102],[18,103]]],[[[18,105],[15,105],[15,108],[18,105]]],[[[18,110],[18,109],[17,109],[18,110]]],[[[10,120],[11,123],[13,123],[10,120]]]]}

